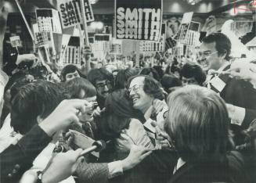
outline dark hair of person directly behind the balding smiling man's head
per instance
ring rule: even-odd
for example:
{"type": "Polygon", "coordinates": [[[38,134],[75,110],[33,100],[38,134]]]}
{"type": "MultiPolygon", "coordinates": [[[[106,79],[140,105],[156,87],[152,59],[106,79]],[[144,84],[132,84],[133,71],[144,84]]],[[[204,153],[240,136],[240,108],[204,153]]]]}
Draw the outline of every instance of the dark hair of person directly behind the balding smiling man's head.
{"type": "Polygon", "coordinates": [[[128,68],[126,70],[119,70],[115,80],[115,89],[126,88],[129,77],[135,76],[137,74],[139,74],[139,71],[135,69],[128,68]]]}

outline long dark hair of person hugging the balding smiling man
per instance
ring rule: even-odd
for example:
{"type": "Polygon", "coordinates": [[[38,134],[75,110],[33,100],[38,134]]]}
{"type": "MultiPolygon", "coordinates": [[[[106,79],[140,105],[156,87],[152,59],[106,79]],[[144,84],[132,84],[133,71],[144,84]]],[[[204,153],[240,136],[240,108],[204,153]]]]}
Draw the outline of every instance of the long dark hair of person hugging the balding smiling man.
{"type": "MultiPolygon", "coordinates": [[[[132,118],[143,120],[143,115],[132,107],[132,101],[124,89],[110,93],[105,102],[106,110],[96,118],[100,136],[105,140],[117,138],[121,131],[129,127],[132,118]]],[[[98,132],[99,132],[98,131],[98,132]]]]}

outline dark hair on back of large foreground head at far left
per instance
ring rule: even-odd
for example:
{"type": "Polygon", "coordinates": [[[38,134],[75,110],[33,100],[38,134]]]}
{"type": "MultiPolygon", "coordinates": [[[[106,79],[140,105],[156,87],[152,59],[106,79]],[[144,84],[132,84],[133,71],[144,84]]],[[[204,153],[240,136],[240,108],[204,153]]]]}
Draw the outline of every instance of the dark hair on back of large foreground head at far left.
{"type": "Polygon", "coordinates": [[[67,94],[58,84],[48,81],[26,84],[12,101],[11,126],[14,131],[26,134],[37,124],[38,116],[48,117],[63,99],[67,99],[67,94]]]}

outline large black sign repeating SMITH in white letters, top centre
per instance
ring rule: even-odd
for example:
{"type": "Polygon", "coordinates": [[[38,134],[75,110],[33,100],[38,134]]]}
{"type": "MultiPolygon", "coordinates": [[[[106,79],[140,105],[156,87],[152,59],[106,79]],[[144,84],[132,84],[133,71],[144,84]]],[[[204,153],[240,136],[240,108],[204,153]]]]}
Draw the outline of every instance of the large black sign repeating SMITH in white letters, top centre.
{"type": "Polygon", "coordinates": [[[116,38],[159,41],[162,0],[115,0],[116,38]]]}

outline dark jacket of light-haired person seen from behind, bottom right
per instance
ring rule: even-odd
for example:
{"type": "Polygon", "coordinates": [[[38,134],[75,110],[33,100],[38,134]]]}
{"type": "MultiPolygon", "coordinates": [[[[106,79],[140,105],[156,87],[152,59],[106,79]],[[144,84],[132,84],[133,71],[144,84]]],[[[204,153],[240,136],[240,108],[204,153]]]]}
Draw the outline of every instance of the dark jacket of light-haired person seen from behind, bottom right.
{"type": "Polygon", "coordinates": [[[230,152],[223,162],[185,163],[168,183],[250,182],[244,172],[243,157],[230,152]]]}

